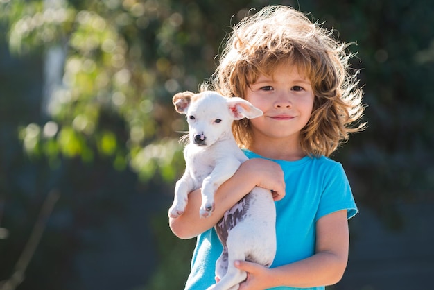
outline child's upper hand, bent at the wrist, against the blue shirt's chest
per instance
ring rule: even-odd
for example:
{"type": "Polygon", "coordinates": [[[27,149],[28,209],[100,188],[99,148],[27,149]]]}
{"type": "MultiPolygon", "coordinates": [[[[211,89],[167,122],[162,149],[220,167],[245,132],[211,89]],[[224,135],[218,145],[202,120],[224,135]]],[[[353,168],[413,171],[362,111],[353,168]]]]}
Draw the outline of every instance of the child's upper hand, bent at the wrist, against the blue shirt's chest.
{"type": "Polygon", "coordinates": [[[285,196],[284,171],[279,164],[271,160],[252,158],[241,164],[240,169],[245,171],[250,180],[255,182],[258,187],[270,189],[275,201],[279,201],[285,196]]]}

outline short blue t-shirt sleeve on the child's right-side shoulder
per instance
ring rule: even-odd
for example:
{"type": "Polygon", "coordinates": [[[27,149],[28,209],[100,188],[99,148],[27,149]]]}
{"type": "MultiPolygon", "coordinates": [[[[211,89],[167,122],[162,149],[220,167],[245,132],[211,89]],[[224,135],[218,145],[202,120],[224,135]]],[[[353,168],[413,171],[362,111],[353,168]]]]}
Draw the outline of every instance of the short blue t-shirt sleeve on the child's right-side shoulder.
{"type": "Polygon", "coordinates": [[[347,210],[347,219],[358,212],[347,175],[342,164],[336,162],[324,174],[324,187],[315,219],[318,221],[322,216],[339,210],[347,210]]]}

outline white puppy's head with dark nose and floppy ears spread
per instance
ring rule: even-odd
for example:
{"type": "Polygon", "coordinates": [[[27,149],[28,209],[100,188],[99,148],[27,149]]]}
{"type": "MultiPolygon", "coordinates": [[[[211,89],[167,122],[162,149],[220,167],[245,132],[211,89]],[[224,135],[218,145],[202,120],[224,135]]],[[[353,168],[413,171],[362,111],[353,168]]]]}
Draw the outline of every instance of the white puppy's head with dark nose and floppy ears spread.
{"type": "Polygon", "coordinates": [[[189,140],[199,146],[210,146],[220,139],[232,137],[232,121],[256,118],[262,111],[244,99],[225,98],[217,92],[182,92],[173,96],[173,105],[186,114],[189,140]]]}

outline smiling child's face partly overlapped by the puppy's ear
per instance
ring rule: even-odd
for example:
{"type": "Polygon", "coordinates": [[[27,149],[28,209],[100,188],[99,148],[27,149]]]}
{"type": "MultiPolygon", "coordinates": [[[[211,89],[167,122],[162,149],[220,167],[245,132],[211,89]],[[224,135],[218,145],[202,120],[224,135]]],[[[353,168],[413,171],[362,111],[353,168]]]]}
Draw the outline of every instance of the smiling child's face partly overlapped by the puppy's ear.
{"type": "Polygon", "coordinates": [[[245,99],[263,111],[251,119],[254,136],[299,138],[313,110],[315,95],[309,78],[296,66],[281,65],[273,77],[259,75],[245,99]]]}

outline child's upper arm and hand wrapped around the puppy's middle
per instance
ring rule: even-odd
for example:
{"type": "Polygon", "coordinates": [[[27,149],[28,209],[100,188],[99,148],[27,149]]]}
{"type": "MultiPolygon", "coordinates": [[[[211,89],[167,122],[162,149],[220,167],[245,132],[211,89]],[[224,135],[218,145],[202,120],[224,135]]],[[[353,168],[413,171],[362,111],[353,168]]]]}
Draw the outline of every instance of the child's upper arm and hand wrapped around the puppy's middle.
{"type": "Polygon", "coordinates": [[[181,239],[191,239],[205,230],[209,230],[220,221],[229,208],[255,186],[275,191],[273,196],[275,196],[276,201],[283,198],[285,196],[285,181],[280,165],[260,158],[243,162],[234,176],[216,191],[215,210],[207,218],[200,218],[199,216],[202,202],[200,189],[191,192],[184,214],[177,219],[169,218],[172,232],[181,239]]]}

